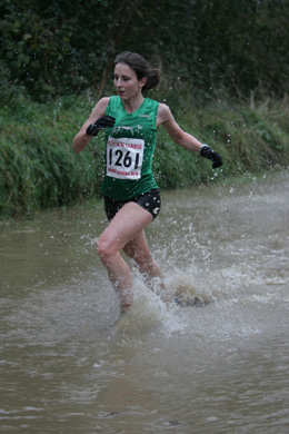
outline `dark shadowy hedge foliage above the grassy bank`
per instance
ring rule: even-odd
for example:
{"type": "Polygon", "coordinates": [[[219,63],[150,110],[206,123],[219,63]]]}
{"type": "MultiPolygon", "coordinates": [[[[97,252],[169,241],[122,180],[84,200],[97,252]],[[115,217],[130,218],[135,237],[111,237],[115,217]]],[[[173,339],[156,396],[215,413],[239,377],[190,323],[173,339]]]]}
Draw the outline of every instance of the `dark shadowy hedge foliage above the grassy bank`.
{"type": "Polygon", "coordinates": [[[0,17],[6,98],[101,92],[128,49],[202,99],[223,87],[238,98],[288,89],[286,0],[2,0],[0,17]]]}

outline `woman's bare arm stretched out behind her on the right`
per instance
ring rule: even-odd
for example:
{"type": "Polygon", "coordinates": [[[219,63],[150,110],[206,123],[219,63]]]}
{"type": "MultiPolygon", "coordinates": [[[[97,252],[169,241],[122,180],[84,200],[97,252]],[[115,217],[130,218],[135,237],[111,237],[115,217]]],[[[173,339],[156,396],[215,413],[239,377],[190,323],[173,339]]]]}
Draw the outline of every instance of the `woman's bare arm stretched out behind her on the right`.
{"type": "Polygon", "coordinates": [[[172,140],[177,144],[192,150],[195,152],[199,152],[202,144],[196,139],[189,132],[183,131],[180,126],[176,122],[170,109],[165,103],[159,105],[159,111],[157,117],[157,127],[162,125],[168,135],[172,138],[172,140]]]}

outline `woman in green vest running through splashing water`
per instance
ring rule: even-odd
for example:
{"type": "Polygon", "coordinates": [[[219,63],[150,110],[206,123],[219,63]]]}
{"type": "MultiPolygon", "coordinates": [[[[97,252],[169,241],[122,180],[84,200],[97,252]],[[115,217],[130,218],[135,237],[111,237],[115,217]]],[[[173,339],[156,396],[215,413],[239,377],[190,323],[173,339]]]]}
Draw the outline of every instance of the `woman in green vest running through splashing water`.
{"type": "Polygon", "coordinates": [[[159,70],[142,56],[128,51],[118,55],[114,60],[118,96],[98,101],[72,144],[78,154],[93,136],[104,130],[106,172],[101,191],[110,223],[98,239],[98,254],[122,308],[131,306],[133,294],[130,268],[121,250],[133,259],[148,284],[153,286],[153,282],[159,282],[160,298],[166,303],[170,300],[144,236],[146,226],[158,216],[161,206],[152,175],[157,128],[162,125],[177,145],[212,160],[212,168],[222,165],[216,151],[180,128],[167,105],[143,97],[143,91],[157,86],[159,80],[159,70]]]}

